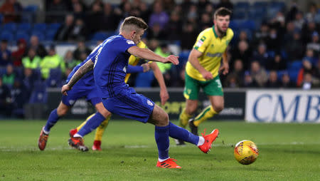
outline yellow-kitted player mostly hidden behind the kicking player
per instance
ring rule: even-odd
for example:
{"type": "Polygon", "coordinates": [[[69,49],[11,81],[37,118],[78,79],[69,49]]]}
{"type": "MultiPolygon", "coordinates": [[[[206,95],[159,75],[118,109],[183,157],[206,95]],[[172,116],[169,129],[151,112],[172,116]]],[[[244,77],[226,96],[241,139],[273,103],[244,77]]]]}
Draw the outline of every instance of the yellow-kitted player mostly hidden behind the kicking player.
{"type": "MultiPolygon", "coordinates": [[[[147,48],[146,44],[143,41],[140,41],[137,46],[139,48],[147,48]]],[[[131,66],[137,66],[137,64],[139,63],[140,58],[137,58],[135,56],[130,56],[129,57],[129,65],[131,66]]],[[[156,65],[156,62],[149,62],[149,66],[152,69],[152,71],[154,71],[154,76],[156,77],[156,80],[159,83],[159,87],[160,87],[160,98],[161,98],[161,105],[164,105],[166,103],[166,100],[169,99],[169,93],[166,90],[166,84],[164,83],[164,77],[162,76],[162,73],[159,69],[159,67],[156,65]]],[[[127,76],[124,78],[124,81],[127,83],[127,81],[129,80],[130,77],[130,73],[127,73],[127,76]]],[[[94,114],[90,115],[87,120],[89,120],[94,114]]],[[[104,120],[99,127],[97,128],[96,132],[95,132],[95,140],[93,142],[92,145],[92,150],[101,150],[101,141],[102,141],[102,135],[105,132],[105,129],[107,128],[107,125],[109,123],[110,120],[110,116],[108,116],[106,118],[106,120],[104,120]]],[[[87,123],[87,120],[85,120],[85,122],[83,122],[81,125],[78,126],[78,128],[75,128],[73,130],[70,130],[70,136],[74,135],[75,133],[78,132],[78,130],[80,130],[82,128],[83,125],[85,125],[85,123],[87,123]]]]}

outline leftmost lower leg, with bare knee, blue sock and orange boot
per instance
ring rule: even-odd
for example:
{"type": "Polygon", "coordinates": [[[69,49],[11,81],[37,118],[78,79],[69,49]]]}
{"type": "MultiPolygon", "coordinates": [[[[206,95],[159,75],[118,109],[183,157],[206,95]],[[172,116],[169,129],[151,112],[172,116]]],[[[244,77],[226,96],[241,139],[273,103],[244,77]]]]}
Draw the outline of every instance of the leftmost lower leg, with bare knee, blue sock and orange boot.
{"type": "Polygon", "coordinates": [[[40,150],[44,150],[47,145],[50,129],[58,122],[59,118],[65,115],[69,110],[68,105],[63,104],[60,102],[58,108],[51,111],[47,123],[41,129],[41,133],[38,139],[38,148],[40,150]]]}

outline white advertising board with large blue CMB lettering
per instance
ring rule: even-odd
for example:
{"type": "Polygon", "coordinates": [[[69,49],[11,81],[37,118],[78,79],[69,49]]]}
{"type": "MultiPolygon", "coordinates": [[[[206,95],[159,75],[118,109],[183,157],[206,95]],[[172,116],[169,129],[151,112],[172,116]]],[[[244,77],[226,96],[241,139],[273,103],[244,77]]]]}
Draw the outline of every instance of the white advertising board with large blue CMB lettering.
{"type": "Polygon", "coordinates": [[[254,101],[252,112],[258,121],[319,121],[320,95],[297,94],[285,97],[280,94],[262,94],[254,101]]]}

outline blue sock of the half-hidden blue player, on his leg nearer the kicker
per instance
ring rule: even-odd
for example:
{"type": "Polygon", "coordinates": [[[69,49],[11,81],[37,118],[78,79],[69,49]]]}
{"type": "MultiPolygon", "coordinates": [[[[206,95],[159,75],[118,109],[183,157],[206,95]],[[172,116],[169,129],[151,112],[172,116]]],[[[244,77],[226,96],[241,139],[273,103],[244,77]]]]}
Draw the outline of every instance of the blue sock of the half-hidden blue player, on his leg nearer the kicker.
{"type": "Polygon", "coordinates": [[[87,120],[87,123],[85,123],[84,126],[78,131],[78,134],[82,137],[91,133],[92,130],[95,130],[102,121],[105,120],[105,117],[101,115],[99,112],[95,113],[89,120],[87,120]]]}

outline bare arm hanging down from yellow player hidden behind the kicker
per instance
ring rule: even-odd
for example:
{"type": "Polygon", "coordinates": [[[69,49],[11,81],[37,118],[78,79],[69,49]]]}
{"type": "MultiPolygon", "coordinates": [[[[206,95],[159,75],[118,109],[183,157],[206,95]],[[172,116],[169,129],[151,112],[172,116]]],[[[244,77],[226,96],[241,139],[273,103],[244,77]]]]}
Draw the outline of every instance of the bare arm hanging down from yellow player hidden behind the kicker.
{"type": "Polygon", "coordinates": [[[150,63],[150,67],[152,71],[154,71],[154,76],[156,77],[156,81],[158,81],[159,83],[161,105],[164,105],[166,103],[166,100],[169,99],[169,93],[168,93],[168,90],[166,90],[166,83],[164,83],[164,76],[162,76],[160,68],[159,66],[156,65],[155,62],[150,63]]]}

